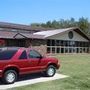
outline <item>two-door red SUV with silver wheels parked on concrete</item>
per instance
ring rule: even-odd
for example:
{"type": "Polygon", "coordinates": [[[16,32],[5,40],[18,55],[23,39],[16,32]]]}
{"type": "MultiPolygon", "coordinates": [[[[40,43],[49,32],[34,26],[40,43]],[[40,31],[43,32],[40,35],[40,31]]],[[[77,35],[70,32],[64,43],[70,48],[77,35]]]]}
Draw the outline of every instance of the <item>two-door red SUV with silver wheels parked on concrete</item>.
{"type": "Polygon", "coordinates": [[[14,83],[22,74],[43,72],[52,77],[59,66],[56,58],[41,56],[31,48],[0,49],[0,78],[7,84],[14,83]]]}

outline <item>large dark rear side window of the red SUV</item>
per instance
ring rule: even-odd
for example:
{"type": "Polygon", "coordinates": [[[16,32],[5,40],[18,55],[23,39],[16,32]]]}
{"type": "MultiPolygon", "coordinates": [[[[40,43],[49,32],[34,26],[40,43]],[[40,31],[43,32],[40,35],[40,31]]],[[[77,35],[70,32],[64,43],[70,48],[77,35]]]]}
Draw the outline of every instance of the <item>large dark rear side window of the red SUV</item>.
{"type": "Polygon", "coordinates": [[[0,60],[9,60],[11,59],[17,50],[3,50],[0,51],[0,60]]]}

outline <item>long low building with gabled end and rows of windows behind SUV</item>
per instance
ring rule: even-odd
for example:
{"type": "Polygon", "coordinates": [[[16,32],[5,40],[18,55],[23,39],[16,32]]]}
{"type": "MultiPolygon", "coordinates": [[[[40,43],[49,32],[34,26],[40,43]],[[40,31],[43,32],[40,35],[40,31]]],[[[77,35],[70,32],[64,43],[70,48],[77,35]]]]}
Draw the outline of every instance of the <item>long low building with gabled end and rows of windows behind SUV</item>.
{"type": "Polygon", "coordinates": [[[90,38],[77,27],[48,30],[0,22],[0,47],[33,47],[41,53],[89,53],[90,38]]]}

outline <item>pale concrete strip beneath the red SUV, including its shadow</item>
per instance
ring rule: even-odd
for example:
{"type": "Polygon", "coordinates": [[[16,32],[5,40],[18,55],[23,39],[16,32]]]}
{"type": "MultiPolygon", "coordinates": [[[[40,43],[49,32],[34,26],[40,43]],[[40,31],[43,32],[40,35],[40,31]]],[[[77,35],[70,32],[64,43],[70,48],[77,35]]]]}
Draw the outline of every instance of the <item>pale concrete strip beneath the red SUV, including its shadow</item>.
{"type": "Polygon", "coordinates": [[[17,82],[14,84],[9,84],[9,85],[3,85],[0,83],[0,90],[6,90],[9,88],[15,88],[15,87],[20,87],[20,86],[25,86],[25,85],[31,85],[39,82],[46,82],[50,80],[56,80],[56,79],[62,79],[66,78],[68,76],[62,75],[62,74],[55,74],[53,77],[43,77],[41,75],[29,75],[29,76],[24,76],[21,77],[17,82]]]}

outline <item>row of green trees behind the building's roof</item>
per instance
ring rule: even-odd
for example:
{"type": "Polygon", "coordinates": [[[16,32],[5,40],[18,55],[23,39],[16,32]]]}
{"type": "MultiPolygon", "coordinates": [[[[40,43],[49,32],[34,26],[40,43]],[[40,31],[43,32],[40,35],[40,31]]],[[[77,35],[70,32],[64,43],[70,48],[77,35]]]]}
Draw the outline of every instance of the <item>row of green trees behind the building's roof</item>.
{"type": "Polygon", "coordinates": [[[77,21],[74,18],[64,20],[53,20],[48,21],[46,23],[32,23],[32,27],[44,27],[44,28],[53,28],[53,29],[59,29],[59,28],[69,28],[69,27],[79,27],[81,30],[83,30],[87,35],[90,36],[90,22],[88,18],[81,17],[77,21]]]}

